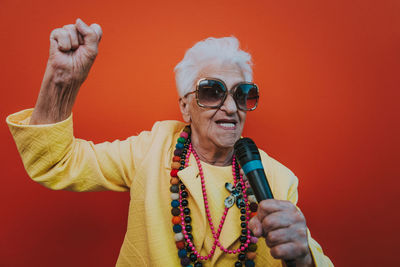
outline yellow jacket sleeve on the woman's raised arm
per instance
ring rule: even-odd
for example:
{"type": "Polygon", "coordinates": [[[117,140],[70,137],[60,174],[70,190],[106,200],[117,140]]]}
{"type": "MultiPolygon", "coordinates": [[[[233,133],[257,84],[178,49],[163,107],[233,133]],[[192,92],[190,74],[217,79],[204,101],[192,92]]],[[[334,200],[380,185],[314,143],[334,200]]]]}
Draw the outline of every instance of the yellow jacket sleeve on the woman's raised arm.
{"type": "Polygon", "coordinates": [[[28,125],[32,109],[7,117],[28,175],[54,190],[127,191],[135,174],[137,137],[93,144],[75,138],[72,115],[61,122],[28,125]]]}

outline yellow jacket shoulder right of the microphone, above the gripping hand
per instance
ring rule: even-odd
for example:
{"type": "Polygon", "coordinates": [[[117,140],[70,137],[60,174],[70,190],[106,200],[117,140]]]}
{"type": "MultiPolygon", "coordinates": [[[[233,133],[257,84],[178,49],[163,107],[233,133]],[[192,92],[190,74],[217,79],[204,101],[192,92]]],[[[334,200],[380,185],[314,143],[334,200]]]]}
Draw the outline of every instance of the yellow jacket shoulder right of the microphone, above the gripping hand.
{"type": "Polygon", "coordinates": [[[293,191],[297,192],[298,179],[285,165],[259,150],[267,180],[276,199],[290,200],[293,191]]]}

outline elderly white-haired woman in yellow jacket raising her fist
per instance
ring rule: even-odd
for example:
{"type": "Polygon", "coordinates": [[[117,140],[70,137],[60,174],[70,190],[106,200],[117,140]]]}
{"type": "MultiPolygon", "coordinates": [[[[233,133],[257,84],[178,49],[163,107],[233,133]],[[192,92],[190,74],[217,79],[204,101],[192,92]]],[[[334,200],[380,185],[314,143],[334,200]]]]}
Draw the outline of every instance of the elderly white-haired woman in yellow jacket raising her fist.
{"type": "Polygon", "coordinates": [[[36,106],[7,118],[33,180],[55,190],[130,191],[117,266],[331,266],[296,208],[297,178],[260,151],[276,200],[257,203],[234,157],[258,102],[251,57],[208,38],[176,66],[186,123],[125,141],[73,136],[71,110],[97,55],[99,25],[55,29],[36,106]],[[225,201],[233,198],[235,201],[225,201]],[[286,262],[286,263],[285,263],[286,262]]]}

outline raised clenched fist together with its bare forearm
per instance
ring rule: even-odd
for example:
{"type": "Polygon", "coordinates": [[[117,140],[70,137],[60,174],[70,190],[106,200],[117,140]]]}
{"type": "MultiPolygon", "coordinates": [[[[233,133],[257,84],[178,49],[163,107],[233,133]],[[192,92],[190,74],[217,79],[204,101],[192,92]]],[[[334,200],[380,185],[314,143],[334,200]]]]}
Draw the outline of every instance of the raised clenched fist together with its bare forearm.
{"type": "Polygon", "coordinates": [[[68,118],[97,56],[101,36],[98,24],[88,26],[80,19],[51,32],[49,59],[30,124],[68,118]]]}

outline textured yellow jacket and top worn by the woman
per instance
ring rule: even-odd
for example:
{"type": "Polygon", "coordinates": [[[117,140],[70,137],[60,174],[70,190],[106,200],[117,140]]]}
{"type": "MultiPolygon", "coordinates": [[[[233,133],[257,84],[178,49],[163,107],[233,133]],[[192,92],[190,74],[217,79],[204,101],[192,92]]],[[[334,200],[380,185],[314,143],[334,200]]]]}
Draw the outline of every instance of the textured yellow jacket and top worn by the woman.
{"type": "MultiPolygon", "coordinates": [[[[55,190],[130,191],[128,228],[117,266],[180,266],[171,222],[169,180],[174,146],[184,124],[163,121],[124,141],[93,144],[73,136],[72,116],[50,125],[27,125],[32,110],[7,117],[22,161],[29,176],[55,190]]],[[[276,199],[297,203],[298,180],[285,166],[261,151],[276,199]]],[[[224,184],[232,182],[231,166],[202,163],[212,218],[219,224],[228,196],[224,184]]],[[[194,242],[202,255],[212,246],[206,220],[200,178],[191,156],[189,166],[178,173],[189,191],[194,242]]],[[[225,247],[237,248],[240,236],[239,210],[232,207],[221,233],[225,247]]],[[[316,266],[333,266],[321,247],[309,235],[316,266]]],[[[204,266],[234,266],[236,255],[220,250],[204,266]]],[[[256,266],[282,266],[271,257],[263,239],[258,242],[256,266]]]]}

